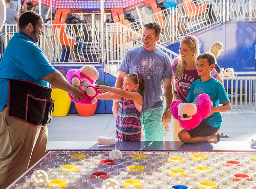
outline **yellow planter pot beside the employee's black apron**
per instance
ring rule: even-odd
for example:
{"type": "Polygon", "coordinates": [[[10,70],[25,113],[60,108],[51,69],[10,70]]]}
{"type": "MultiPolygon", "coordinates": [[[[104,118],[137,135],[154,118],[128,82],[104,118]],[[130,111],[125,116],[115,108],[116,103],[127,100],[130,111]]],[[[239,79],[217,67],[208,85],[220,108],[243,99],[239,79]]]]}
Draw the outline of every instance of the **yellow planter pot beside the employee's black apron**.
{"type": "Polygon", "coordinates": [[[67,116],[71,105],[68,92],[61,89],[52,89],[52,100],[54,100],[54,110],[52,116],[67,116]]]}

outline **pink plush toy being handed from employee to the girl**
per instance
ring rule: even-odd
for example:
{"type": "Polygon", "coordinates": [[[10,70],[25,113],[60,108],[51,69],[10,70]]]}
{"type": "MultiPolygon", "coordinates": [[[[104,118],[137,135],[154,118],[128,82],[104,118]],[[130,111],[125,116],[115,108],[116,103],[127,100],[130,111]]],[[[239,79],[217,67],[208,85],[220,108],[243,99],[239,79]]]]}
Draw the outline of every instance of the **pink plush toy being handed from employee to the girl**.
{"type": "Polygon", "coordinates": [[[95,98],[100,91],[98,91],[94,84],[99,77],[99,72],[94,66],[85,65],[80,69],[70,69],[67,73],[67,80],[73,86],[79,87],[79,89],[86,94],[82,95],[83,100],[77,101],[70,93],[68,93],[70,99],[77,104],[95,104],[97,99],[95,98]]]}

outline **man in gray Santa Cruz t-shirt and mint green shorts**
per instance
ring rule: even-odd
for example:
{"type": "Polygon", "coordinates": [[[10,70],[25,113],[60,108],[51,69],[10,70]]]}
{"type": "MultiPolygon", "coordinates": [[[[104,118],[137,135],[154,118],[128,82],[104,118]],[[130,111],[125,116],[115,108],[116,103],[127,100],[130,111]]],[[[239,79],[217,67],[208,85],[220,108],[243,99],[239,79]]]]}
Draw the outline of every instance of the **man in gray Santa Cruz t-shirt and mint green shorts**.
{"type": "MultiPolygon", "coordinates": [[[[144,25],[143,45],[130,49],[124,55],[116,79],[115,87],[122,88],[124,76],[128,73],[139,73],[145,80],[141,124],[144,125],[146,141],[163,141],[164,127],[171,121],[170,104],[172,102],[172,67],[170,57],[156,48],[156,42],[162,31],[156,22],[144,25]],[[164,84],[163,109],[161,84],[164,84]],[[164,122],[164,123],[162,123],[164,122]]],[[[114,102],[113,114],[116,116],[119,104],[114,102]]]]}

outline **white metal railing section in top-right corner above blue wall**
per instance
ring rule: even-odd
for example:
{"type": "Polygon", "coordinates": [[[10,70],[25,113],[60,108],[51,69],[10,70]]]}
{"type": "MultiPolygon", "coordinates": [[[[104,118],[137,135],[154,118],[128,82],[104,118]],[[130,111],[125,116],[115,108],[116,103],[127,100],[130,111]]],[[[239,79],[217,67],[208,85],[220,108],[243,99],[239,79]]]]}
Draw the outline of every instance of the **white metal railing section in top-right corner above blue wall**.
{"type": "Polygon", "coordinates": [[[244,21],[256,19],[256,0],[231,0],[230,20],[244,21]]]}

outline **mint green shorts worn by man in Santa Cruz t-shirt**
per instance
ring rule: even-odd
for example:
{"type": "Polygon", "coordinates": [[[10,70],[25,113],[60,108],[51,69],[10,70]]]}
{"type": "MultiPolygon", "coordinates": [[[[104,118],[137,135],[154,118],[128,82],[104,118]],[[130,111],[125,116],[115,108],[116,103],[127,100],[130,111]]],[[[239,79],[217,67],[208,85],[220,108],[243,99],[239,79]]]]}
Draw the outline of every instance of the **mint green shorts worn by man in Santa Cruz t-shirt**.
{"type": "Polygon", "coordinates": [[[146,141],[163,141],[164,127],[162,117],[164,114],[163,106],[155,110],[143,110],[141,125],[144,125],[146,141]]]}

